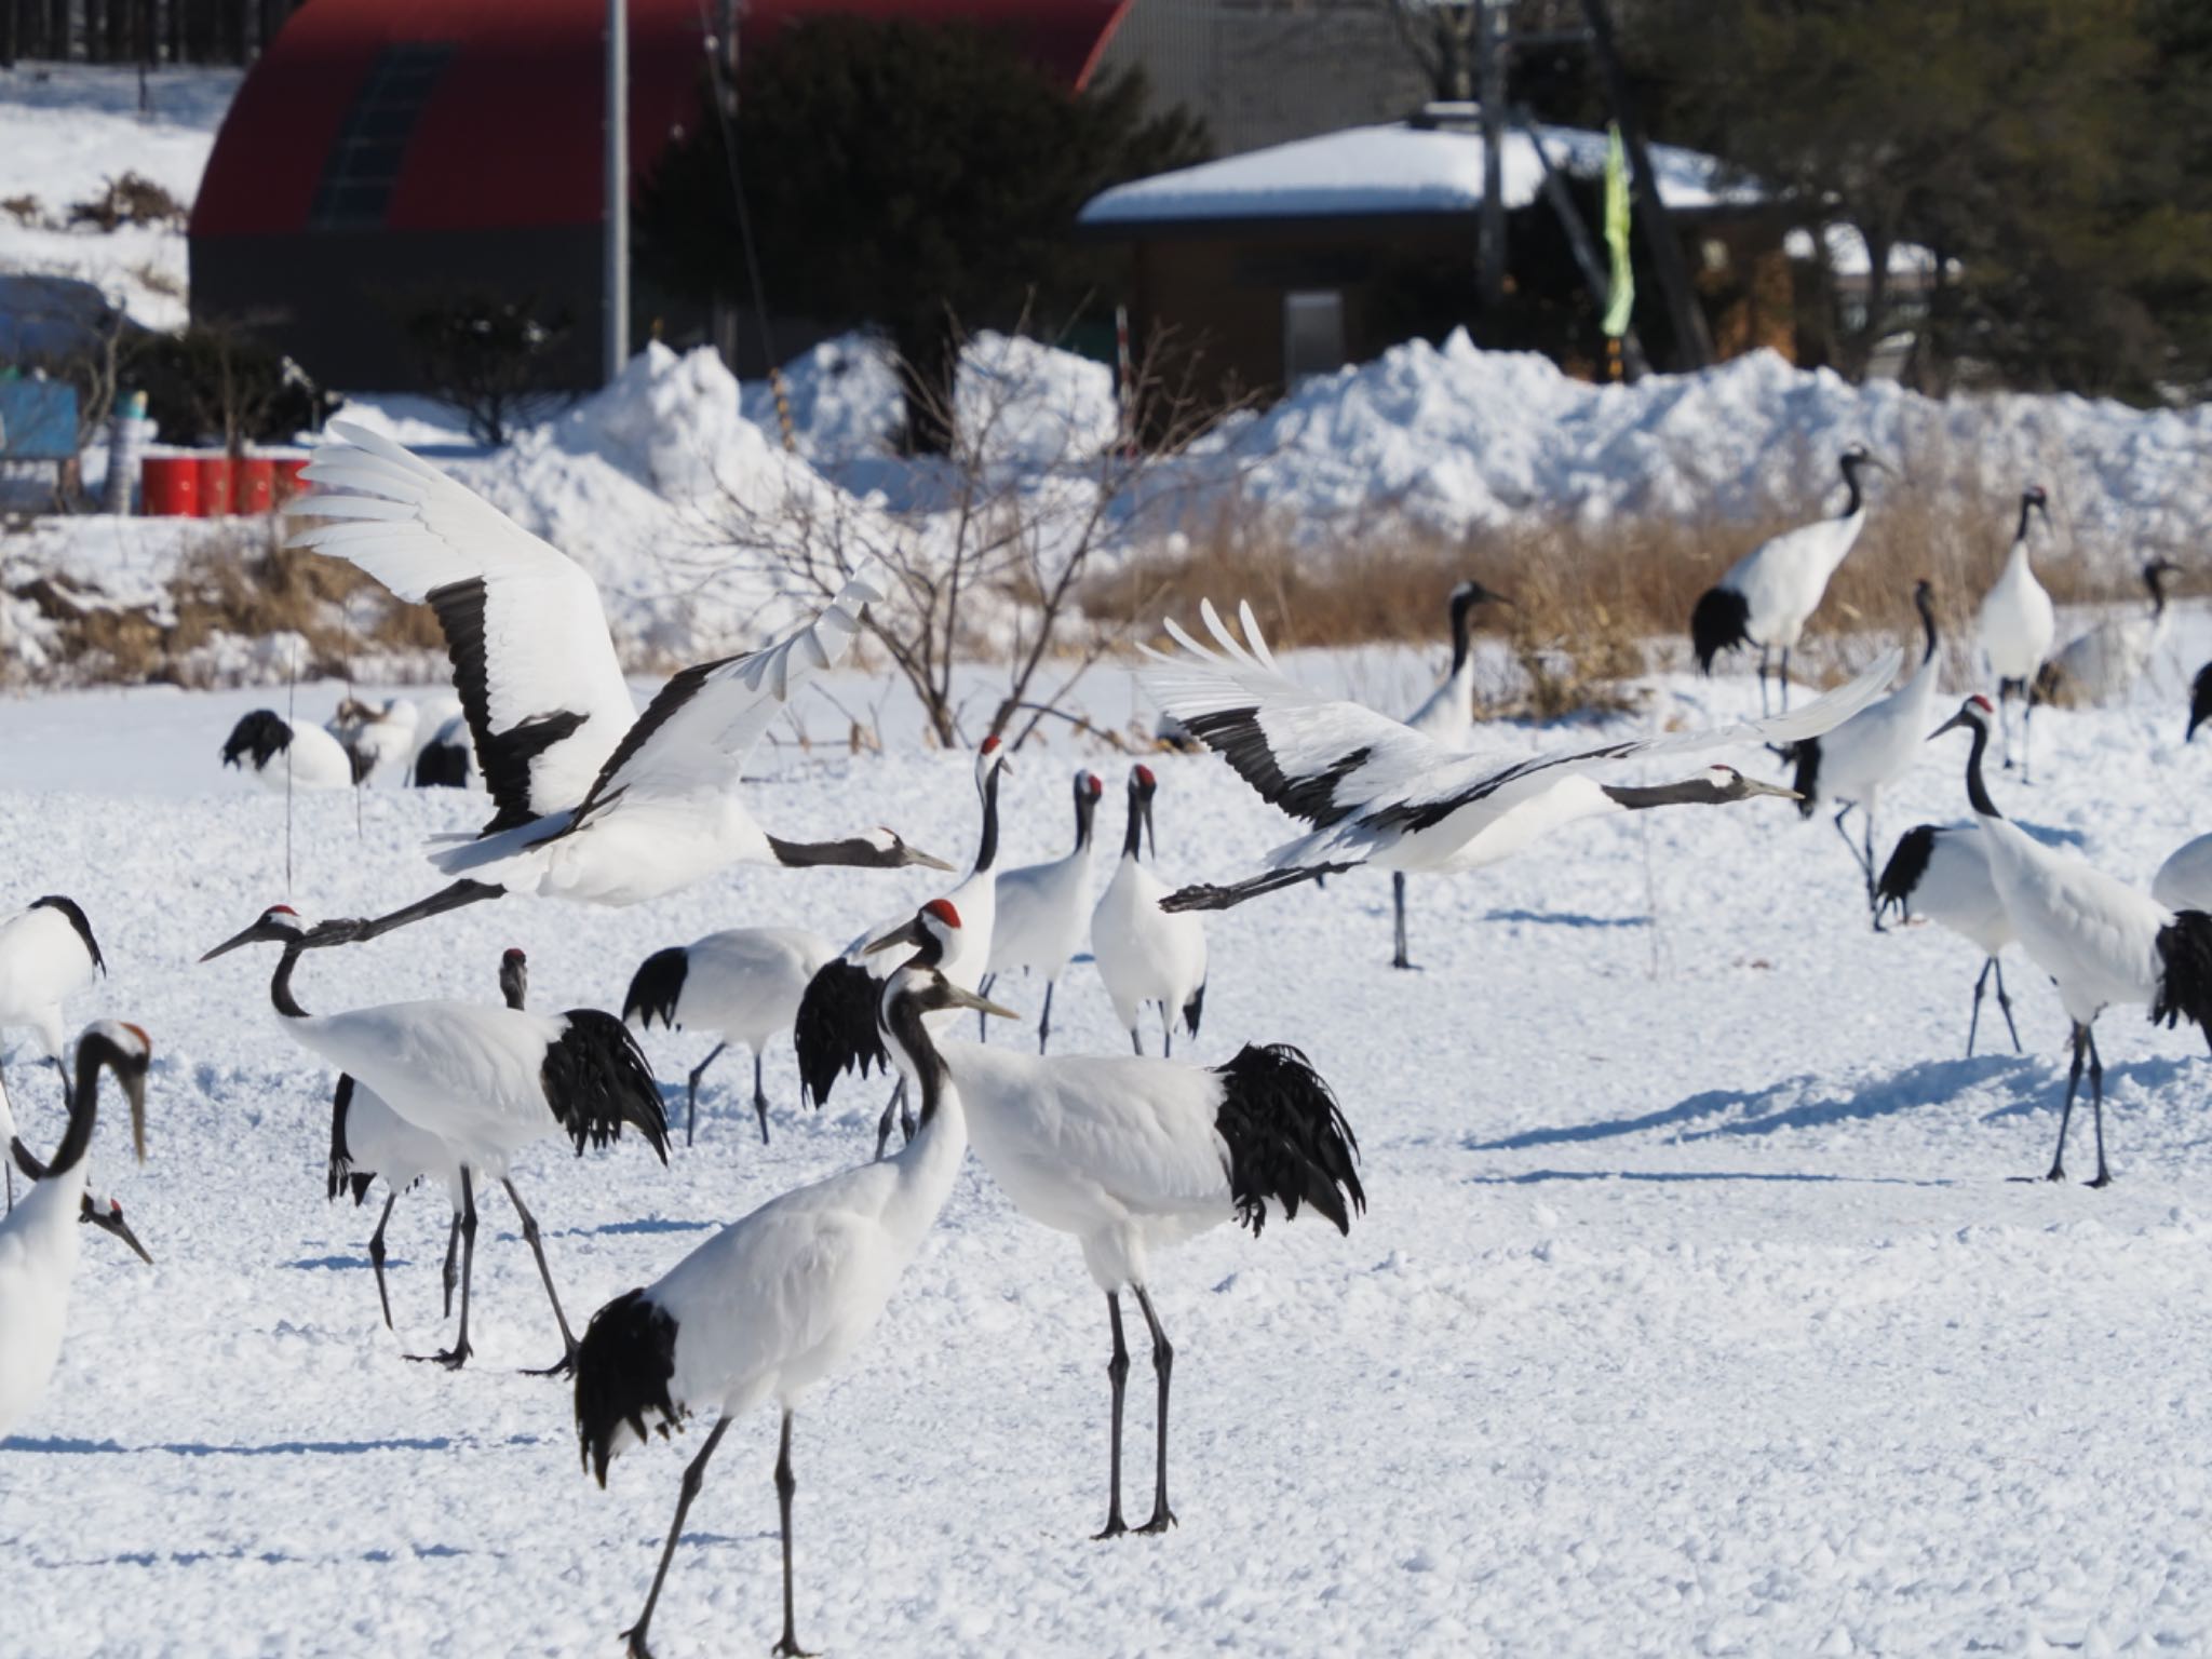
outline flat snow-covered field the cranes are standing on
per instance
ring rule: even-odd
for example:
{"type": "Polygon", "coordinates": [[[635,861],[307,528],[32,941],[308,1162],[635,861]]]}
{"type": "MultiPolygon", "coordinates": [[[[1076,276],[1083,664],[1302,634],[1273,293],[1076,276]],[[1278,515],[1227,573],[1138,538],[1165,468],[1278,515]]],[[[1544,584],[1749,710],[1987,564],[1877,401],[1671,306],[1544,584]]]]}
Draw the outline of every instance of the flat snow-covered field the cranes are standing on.
{"type": "MultiPolygon", "coordinates": [[[[2146,880],[2205,830],[2212,752],[2183,748],[2179,668],[2099,714],[2037,721],[2020,818],[2146,880]]],[[[1321,679],[1325,664],[1305,659],[1321,679]]],[[[1363,672],[1371,672],[1363,670],[1363,672]]],[[[1376,695],[1380,695],[1380,686],[1376,695]]],[[[852,697],[847,681],[841,695],[852,697]]],[[[303,714],[336,688],[303,686],[303,714]]],[[[1108,672],[1093,708],[1119,719],[1108,672]]],[[[1741,710],[1747,679],[1670,681],[1650,719],[1741,710]]],[[[75,692],[0,706],[9,902],[75,894],[113,975],[75,1018],[155,1040],[153,1157],[100,1177],[157,1256],[86,1241],[69,1349],[0,1444],[0,1652],[611,1655],[699,1442],[633,1453],[599,1493],[568,1394],[518,1376],[553,1329],[504,1201],[480,1237],[478,1363],[438,1343],[442,1206],[394,1217],[398,1336],[376,1318],[372,1210],[323,1201],[330,1077],[265,1006],[270,962],[195,958],[272,900],[354,914],[427,891],[422,836],[480,799],[369,790],[285,807],[219,776],[252,692],[75,692]]],[[[1568,741],[1502,728],[1502,754],[1568,741]]],[[[1958,737],[1885,814],[1885,845],[1962,810],[1958,737]]],[[[1772,765],[1767,757],[1750,763],[1772,765]]],[[[1031,748],[1006,856],[1066,843],[1066,774],[1031,748]]],[[[1212,759],[1157,757],[1177,878],[1241,874],[1285,834],[1212,759]]],[[[757,759],[785,834],[889,823],[973,845],[967,757],[757,759]]],[[[1657,774],[1655,774],[1657,776],[1657,774]]],[[[1099,880],[1104,883],[1104,869],[1099,880]]],[[[730,872],[637,911],[507,900],[310,960],[307,1006],[493,995],[522,945],[540,1006],[619,1002],[668,942],[803,920],[832,938],[929,880],[730,872]]],[[[1759,801],[1586,825],[1555,852],[1413,883],[1420,973],[1391,973],[1389,887],[1332,880],[1210,920],[1206,1062],[1292,1040],[1360,1135],[1369,1212],[1259,1241],[1223,1228],[1157,1267],[1177,1343],[1181,1526],[1093,1544],[1106,1321],[1075,1248],[969,1161],[860,1360],[801,1411],[801,1635],[872,1655],[2042,1655],[2212,1646],[2205,1060],[2135,1011],[2101,1024],[2117,1183],[2048,1164],[2064,1018],[2011,969],[2028,1055],[1960,1046],[1971,947],[1876,936],[1820,821],[1759,801]]],[[[1037,989],[1002,995],[1024,1011],[1037,989]]],[[[1993,1011],[1991,1011],[1993,1013],[1993,1011]]],[[[1055,1044],[1121,1037],[1088,962],[1055,1044]]],[[[655,1033],[664,1079],[708,1037],[655,1033]]],[[[880,1091],[794,1108],[787,1048],[761,1148],[743,1060],[699,1144],[524,1157],[573,1314],[796,1181],[865,1157],[880,1091]]],[[[51,1075],[11,1071],[51,1141],[51,1075]]],[[[2077,1126],[2086,1133],[2086,1124],[2077,1126]]],[[[2077,1157],[2086,1166],[2086,1148],[2077,1157]]],[[[1150,1389],[1130,1389],[1144,1504],[1150,1389]]],[[[692,1509],[657,1650],[757,1652],[776,1628],[774,1420],[739,1425],[692,1509]]]]}

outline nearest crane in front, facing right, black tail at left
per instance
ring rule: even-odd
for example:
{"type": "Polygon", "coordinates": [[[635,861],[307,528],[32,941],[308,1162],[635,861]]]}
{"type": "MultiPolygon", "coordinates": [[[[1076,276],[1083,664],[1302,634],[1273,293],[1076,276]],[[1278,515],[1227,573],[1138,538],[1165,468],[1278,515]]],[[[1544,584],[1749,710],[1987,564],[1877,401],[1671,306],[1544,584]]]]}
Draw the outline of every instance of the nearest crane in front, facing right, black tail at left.
{"type": "MultiPolygon", "coordinates": [[[[960,931],[942,898],[929,905],[960,931]]],[[[920,1093],[920,1128],[891,1159],[832,1175],[770,1199],[641,1290],[591,1316],[575,1367],[575,1429],[584,1467],[606,1486],[608,1462],[653,1429],[692,1411],[714,1427],[684,1469],[677,1513],[646,1606],[624,1637],[648,1659],[653,1610],[684,1535],[706,1464],[730,1425],[765,1400],[783,1413],[776,1436],[776,1513],[783,1531],[783,1635],[779,1655],[801,1655],[792,1606],[792,1413],[843,1367],[883,1316],[900,1274],[936,1223],[967,1155],[960,1093],[929,1037],[931,1020],[960,1009],[1013,1018],[933,967],[898,969],[883,993],[883,1029],[920,1093]]]]}

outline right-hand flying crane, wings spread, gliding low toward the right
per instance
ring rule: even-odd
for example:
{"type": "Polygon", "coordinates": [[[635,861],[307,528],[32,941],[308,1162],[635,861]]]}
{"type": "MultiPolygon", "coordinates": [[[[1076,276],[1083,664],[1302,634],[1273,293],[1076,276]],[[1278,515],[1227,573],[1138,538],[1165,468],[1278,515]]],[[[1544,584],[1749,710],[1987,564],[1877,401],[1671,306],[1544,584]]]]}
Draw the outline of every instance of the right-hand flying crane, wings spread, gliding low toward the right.
{"type": "Polygon", "coordinates": [[[1796,714],[1776,714],[1701,732],[1624,739],[1599,748],[1542,754],[1500,765],[1455,754],[1420,732],[1358,703],[1316,697],[1283,677],[1252,608],[1245,639],[1212,604],[1199,615],[1221,650],[1208,650],[1175,622],[1181,657],[1152,653],[1152,697],[1250,783],[1261,799],[1303,818],[1312,832],[1267,854],[1259,876],[1214,887],[1183,887],[1161,909],[1228,909],[1316,876],[1356,865],[1383,869],[1475,869],[1498,863],[1551,830],[1606,812],[1666,805],[1719,805],[1792,790],[1708,768],[1661,785],[1615,785],[1584,776],[1632,754],[1683,754],[1730,743],[1794,743],[1820,737],[1871,703],[1902,655],[1889,650],[1849,686],[1796,714]]]}

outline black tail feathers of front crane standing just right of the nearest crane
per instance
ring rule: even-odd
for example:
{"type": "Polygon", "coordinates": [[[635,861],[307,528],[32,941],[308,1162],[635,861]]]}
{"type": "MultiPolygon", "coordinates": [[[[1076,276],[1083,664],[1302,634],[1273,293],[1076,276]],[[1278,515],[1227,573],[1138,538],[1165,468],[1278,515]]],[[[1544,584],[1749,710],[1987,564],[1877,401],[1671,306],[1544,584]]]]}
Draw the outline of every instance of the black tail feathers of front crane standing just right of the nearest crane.
{"type": "Polygon", "coordinates": [[[1274,1199],[1292,1221],[1301,1203],[1312,1203],[1338,1232],[1352,1232],[1352,1210],[1367,1208],[1356,1170],[1360,1144],[1312,1062],[1287,1042],[1248,1042],[1214,1075],[1214,1128],[1230,1148],[1237,1221],[1256,1239],[1274,1199]]]}

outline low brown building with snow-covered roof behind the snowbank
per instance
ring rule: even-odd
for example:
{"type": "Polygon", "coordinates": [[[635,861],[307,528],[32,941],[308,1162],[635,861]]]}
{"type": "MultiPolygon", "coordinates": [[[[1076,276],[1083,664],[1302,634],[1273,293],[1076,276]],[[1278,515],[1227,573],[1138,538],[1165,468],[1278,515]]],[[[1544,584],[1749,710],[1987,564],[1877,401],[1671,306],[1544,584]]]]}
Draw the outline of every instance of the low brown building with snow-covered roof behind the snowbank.
{"type": "MultiPolygon", "coordinates": [[[[1484,137],[1458,106],[1444,111],[1274,144],[1093,197],[1082,230],[1128,248],[1135,336],[1170,334],[1199,358],[1201,385],[1241,394],[1462,325],[1484,345],[1595,369],[1601,303],[1548,199],[1546,170],[1595,234],[1606,135],[1564,126],[1504,135],[1506,303],[1482,316],[1484,137]]],[[[1710,155],[1655,144],[1650,157],[1721,356],[1759,345],[1794,354],[1783,223],[1765,192],[1710,155]]],[[[1635,259],[1637,292],[1652,294],[1641,248],[1635,259]]],[[[1666,363],[1663,310],[1639,301],[1637,327],[1666,363]]]]}

